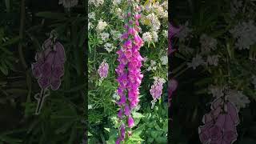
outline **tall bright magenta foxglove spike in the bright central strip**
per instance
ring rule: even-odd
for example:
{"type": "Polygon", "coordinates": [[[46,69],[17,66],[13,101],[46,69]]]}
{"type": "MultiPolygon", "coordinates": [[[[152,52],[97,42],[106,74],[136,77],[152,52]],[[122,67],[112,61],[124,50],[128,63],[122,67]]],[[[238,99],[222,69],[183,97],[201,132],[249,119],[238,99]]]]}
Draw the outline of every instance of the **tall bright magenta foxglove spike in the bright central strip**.
{"type": "MultiPolygon", "coordinates": [[[[120,100],[118,101],[118,106],[120,106],[118,117],[122,121],[122,125],[120,127],[121,134],[116,143],[124,141],[126,124],[130,128],[134,126],[134,119],[130,111],[138,106],[138,87],[141,85],[143,78],[140,70],[143,58],[139,53],[143,41],[138,35],[138,31],[140,30],[138,19],[141,18],[141,15],[138,14],[139,6],[137,4],[135,2],[131,4],[131,1],[128,2],[129,12],[124,17],[126,21],[124,26],[126,32],[122,34],[122,48],[117,51],[119,65],[116,72],[118,74],[117,81],[119,84],[118,95],[120,96],[120,100]]],[[[130,134],[131,132],[128,132],[128,136],[130,134]]]]}

